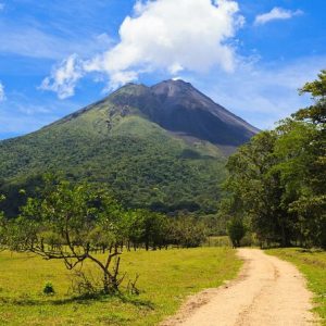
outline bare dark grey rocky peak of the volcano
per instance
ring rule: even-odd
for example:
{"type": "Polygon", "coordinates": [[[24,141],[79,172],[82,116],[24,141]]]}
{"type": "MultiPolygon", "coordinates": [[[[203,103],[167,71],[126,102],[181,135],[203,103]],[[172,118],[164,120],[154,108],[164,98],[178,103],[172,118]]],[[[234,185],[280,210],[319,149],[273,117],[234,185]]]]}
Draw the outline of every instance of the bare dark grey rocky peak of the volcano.
{"type": "Polygon", "coordinates": [[[152,87],[129,84],[109,99],[116,105],[137,108],[170,131],[215,145],[240,146],[258,131],[184,80],[165,80],[152,87]]]}

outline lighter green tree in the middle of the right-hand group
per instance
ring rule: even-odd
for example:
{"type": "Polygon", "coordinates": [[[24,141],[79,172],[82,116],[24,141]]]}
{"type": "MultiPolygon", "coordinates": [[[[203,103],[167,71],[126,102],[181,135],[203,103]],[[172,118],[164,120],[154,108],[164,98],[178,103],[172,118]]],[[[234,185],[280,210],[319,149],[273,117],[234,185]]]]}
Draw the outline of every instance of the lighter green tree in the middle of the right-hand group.
{"type": "Polygon", "coordinates": [[[278,162],[273,166],[273,172],[280,176],[283,187],[280,204],[287,210],[287,218],[291,217],[292,239],[308,246],[315,233],[312,224],[315,218],[304,217],[299,211],[293,210],[293,205],[302,196],[311,192],[308,183],[315,160],[311,151],[315,127],[287,118],[280,122],[276,130],[278,138],[275,143],[275,155],[278,162]]]}

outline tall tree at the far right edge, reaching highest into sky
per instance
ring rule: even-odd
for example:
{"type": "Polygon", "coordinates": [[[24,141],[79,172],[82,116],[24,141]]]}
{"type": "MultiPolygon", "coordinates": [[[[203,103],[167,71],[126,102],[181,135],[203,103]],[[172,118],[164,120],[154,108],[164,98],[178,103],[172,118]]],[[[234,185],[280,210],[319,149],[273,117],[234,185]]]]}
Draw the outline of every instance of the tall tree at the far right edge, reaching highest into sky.
{"type": "Polygon", "coordinates": [[[310,93],[314,104],[299,110],[293,120],[313,127],[309,143],[301,150],[308,152],[303,187],[299,198],[290,205],[309,227],[313,243],[326,248],[326,71],[314,82],[306,83],[300,93],[310,93]]]}

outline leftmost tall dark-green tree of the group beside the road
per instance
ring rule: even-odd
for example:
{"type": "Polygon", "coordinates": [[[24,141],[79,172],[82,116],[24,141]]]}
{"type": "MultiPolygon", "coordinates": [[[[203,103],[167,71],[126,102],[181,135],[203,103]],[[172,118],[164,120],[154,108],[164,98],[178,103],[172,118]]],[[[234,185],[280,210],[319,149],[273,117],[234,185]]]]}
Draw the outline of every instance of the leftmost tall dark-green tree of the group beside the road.
{"type": "Polygon", "coordinates": [[[290,225],[287,211],[280,205],[280,176],[272,170],[277,162],[274,154],[276,139],[274,131],[262,131],[229,158],[225,189],[230,199],[226,213],[249,220],[261,241],[287,246],[290,225]]]}

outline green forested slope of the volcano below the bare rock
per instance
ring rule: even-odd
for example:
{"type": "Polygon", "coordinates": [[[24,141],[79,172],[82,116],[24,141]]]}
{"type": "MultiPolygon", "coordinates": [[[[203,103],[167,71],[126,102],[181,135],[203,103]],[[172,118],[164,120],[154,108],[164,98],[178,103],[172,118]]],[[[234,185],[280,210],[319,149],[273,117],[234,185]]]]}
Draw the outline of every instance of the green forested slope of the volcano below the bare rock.
{"type": "MultiPolygon", "coordinates": [[[[8,215],[42,187],[41,175],[62,172],[73,181],[110,185],[125,206],[158,212],[215,211],[225,159],[206,142],[186,143],[136,115],[105,121],[116,108],[104,101],[25,137],[0,142],[0,191],[8,215]]],[[[134,110],[135,111],[135,110],[134,110]]]]}

